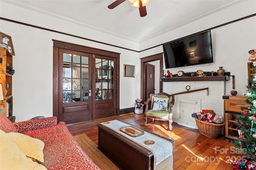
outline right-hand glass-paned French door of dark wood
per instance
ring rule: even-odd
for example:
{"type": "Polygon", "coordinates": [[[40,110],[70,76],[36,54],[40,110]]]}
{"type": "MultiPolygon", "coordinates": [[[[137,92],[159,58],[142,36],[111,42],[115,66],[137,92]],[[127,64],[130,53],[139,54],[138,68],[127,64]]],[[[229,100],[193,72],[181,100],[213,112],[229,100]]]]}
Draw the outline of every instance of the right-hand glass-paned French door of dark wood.
{"type": "Polygon", "coordinates": [[[92,78],[93,118],[99,119],[116,115],[116,59],[93,55],[95,76],[92,78]]]}

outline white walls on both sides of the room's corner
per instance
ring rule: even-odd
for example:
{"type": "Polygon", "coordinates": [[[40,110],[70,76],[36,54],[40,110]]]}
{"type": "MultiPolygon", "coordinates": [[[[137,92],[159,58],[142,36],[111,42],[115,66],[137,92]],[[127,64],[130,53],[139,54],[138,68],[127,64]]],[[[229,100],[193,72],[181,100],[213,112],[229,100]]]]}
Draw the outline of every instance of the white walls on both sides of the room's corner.
{"type": "MultiPolygon", "coordinates": [[[[159,35],[155,39],[138,44],[133,41],[121,39],[120,37],[97,32],[81,24],[53,18],[52,16],[35,12],[29,8],[14,6],[12,5],[12,1],[10,3],[1,1],[0,3],[0,16],[2,18],[54,29],[134,50],[153,47],[212,26],[248,16],[249,14],[255,13],[255,8],[252,8],[252,6],[256,4],[255,1],[242,2],[236,6],[232,6],[232,8],[227,8],[225,11],[220,11],[218,14],[206,16],[200,21],[195,21],[179,29],[159,35]]],[[[121,53],[120,109],[134,107],[136,98],[140,97],[139,58],[163,52],[162,46],[159,46],[138,54],[134,51],[4,20],[0,20],[0,30],[12,37],[16,54],[13,59],[15,74],[13,76],[12,87],[14,96],[13,112],[16,116],[16,121],[28,120],[37,115],[52,116],[52,39],[121,53]],[[123,77],[123,64],[135,65],[135,78],[123,77]]],[[[198,69],[216,71],[219,66],[223,66],[226,71],[236,76],[235,90],[238,91],[238,94],[244,94],[245,85],[247,84],[248,51],[255,48],[256,45],[255,30],[255,17],[214,29],[212,30],[214,63],[210,66],[197,65],[173,68],[170,69],[170,72],[176,74],[178,70],[190,72],[198,69]]],[[[226,93],[228,94],[230,90],[232,90],[232,84],[231,81],[228,81],[226,84],[226,93]]]]}

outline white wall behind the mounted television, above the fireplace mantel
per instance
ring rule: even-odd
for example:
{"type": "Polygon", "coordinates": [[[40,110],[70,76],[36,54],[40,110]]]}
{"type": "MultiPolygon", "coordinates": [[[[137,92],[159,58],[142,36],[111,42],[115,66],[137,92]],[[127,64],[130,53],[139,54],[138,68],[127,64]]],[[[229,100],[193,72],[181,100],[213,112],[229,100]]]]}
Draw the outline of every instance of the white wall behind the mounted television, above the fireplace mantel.
{"type": "MultiPolygon", "coordinates": [[[[140,43],[140,50],[147,49],[151,45],[159,45],[166,43],[211,27],[227,23],[229,21],[236,20],[248,16],[250,14],[256,13],[256,1],[244,1],[236,4],[224,11],[220,11],[211,16],[206,16],[201,20],[194,21],[183,27],[174,29],[159,35],[154,39],[149,39],[147,41],[140,43]]],[[[194,65],[194,66],[184,66],[178,68],[165,69],[164,73],[167,74],[167,70],[170,70],[172,74],[177,74],[179,70],[184,72],[196,72],[196,70],[201,69],[203,71],[217,71],[219,66],[223,66],[226,72],[230,72],[231,75],[235,75],[235,89],[238,94],[246,93],[247,85],[247,62],[250,55],[248,51],[250,49],[255,49],[256,47],[256,17],[241,20],[229,25],[218,27],[212,29],[212,49],[214,63],[210,66],[205,64],[194,65]]],[[[148,51],[143,51],[140,53],[140,58],[146,57],[152,53],[162,53],[162,46],[150,49],[148,51]]],[[[226,82],[225,94],[230,94],[232,89],[232,77],[226,82]]],[[[220,99],[222,100],[222,99],[220,99]]]]}

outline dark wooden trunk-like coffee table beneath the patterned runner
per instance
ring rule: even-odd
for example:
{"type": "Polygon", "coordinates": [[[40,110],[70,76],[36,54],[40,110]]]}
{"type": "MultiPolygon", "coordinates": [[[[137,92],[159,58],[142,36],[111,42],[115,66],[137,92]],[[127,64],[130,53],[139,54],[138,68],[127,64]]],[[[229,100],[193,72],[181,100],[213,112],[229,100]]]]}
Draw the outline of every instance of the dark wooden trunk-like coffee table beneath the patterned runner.
{"type": "MultiPolygon", "coordinates": [[[[122,121],[122,120],[119,120],[122,121]]],[[[124,121],[122,121],[124,122],[124,121]]],[[[131,125],[130,123],[124,122],[131,125]]],[[[138,143],[132,141],[131,139],[121,135],[109,127],[98,124],[98,148],[106,155],[110,160],[112,160],[117,166],[123,170],[154,170],[166,169],[172,170],[173,167],[173,154],[160,162],[157,166],[154,166],[154,154],[142,147],[138,143]]],[[[132,125],[133,127],[136,127],[132,125]]],[[[136,127],[138,128],[138,127],[136,127]]],[[[140,128],[138,128],[140,129],[140,128]]],[[[145,129],[141,129],[146,131],[145,129]]],[[[151,133],[149,131],[146,131],[151,133]]],[[[161,137],[162,139],[170,141],[172,144],[173,140],[167,139],[155,133],[151,133],[161,137]]]]}

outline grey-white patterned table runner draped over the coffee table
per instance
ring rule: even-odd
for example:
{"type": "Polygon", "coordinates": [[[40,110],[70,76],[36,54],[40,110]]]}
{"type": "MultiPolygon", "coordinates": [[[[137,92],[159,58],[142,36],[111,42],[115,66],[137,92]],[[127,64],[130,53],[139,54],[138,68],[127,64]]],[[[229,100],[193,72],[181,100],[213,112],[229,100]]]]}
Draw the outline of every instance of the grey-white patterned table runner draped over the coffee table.
{"type": "Polygon", "coordinates": [[[123,133],[122,131],[120,131],[120,128],[122,126],[130,126],[130,125],[118,120],[109,121],[108,124],[106,123],[101,123],[101,124],[109,127],[110,129],[113,129],[114,131],[120,133],[120,135],[123,135],[131,139],[132,141],[138,143],[142,147],[150,150],[154,154],[155,166],[172,155],[172,152],[173,152],[172,143],[170,141],[167,141],[166,139],[162,139],[161,137],[158,137],[146,131],[144,131],[144,135],[140,135],[138,137],[131,137],[130,135],[127,135],[126,133],[123,133]],[[147,140],[155,141],[155,144],[146,145],[144,141],[147,141],[147,140]]]}

